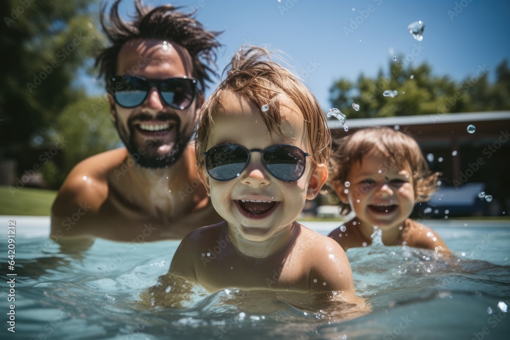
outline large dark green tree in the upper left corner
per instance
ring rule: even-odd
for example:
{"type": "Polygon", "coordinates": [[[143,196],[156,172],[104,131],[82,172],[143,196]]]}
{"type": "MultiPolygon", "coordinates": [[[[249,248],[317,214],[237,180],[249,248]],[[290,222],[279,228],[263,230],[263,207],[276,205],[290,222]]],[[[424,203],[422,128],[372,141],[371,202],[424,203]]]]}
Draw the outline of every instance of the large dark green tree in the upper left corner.
{"type": "Polygon", "coordinates": [[[76,74],[103,45],[98,8],[90,0],[0,2],[0,157],[30,148],[35,135],[48,141],[48,124],[80,95],[76,74]]]}

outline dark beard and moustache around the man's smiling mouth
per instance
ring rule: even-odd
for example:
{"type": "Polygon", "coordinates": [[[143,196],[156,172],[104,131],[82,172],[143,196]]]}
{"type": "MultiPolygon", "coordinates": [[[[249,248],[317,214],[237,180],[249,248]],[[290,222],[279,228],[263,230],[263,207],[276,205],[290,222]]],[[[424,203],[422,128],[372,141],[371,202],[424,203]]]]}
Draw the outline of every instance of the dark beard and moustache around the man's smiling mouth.
{"type": "Polygon", "coordinates": [[[152,117],[140,114],[130,118],[127,121],[127,127],[129,128],[129,132],[127,132],[126,128],[120,124],[120,120],[118,119],[116,112],[115,116],[115,126],[117,128],[120,139],[122,142],[124,142],[127,152],[131,154],[132,158],[137,162],[138,165],[144,168],[168,168],[173,165],[184,154],[186,146],[189,144],[193,134],[193,131],[190,128],[186,128],[183,135],[180,134],[181,119],[179,116],[175,114],[160,113],[156,117],[157,120],[167,121],[171,119],[175,121],[175,125],[171,127],[172,129],[175,129],[177,134],[175,141],[173,142],[173,146],[167,145],[166,147],[161,148],[164,142],[159,139],[148,139],[145,141],[144,145],[139,145],[139,143],[137,144],[135,140],[136,127],[132,124],[132,121],[135,119],[138,119],[139,121],[143,121],[144,119],[149,120],[152,117]],[[188,132],[188,130],[190,130],[190,132],[188,132]]]}

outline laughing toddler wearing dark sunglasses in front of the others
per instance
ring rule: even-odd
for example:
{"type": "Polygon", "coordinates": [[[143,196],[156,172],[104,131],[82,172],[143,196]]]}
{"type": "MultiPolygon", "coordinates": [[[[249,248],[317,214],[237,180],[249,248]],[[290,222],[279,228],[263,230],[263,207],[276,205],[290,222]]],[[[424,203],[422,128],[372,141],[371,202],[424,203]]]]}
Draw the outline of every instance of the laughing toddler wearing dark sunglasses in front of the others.
{"type": "Polygon", "coordinates": [[[202,107],[198,175],[225,221],[188,234],[168,275],[209,292],[326,293],[352,302],[343,249],[296,222],[328,176],[324,113],[313,94],[269,58],[263,48],[241,48],[202,107]]]}

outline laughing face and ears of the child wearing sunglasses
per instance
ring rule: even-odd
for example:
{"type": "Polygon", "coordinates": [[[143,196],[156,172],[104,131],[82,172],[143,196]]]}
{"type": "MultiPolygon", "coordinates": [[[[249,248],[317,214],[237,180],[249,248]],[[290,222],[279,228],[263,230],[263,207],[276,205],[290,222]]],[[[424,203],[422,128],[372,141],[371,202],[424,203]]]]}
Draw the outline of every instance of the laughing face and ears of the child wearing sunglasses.
{"type": "MultiPolygon", "coordinates": [[[[213,114],[206,150],[228,143],[247,150],[291,144],[304,152],[310,151],[302,114],[295,111],[292,103],[280,103],[283,137],[268,132],[259,109],[252,102],[234,94],[223,94],[222,104],[223,108],[213,114]]],[[[205,167],[199,170],[199,176],[214,208],[231,230],[246,240],[263,241],[289,227],[300,214],[305,200],[314,198],[327,179],[325,166],[313,169],[311,159],[305,159],[304,173],[293,182],[271,175],[259,152],[252,152],[246,168],[231,180],[215,180],[205,167]]]]}

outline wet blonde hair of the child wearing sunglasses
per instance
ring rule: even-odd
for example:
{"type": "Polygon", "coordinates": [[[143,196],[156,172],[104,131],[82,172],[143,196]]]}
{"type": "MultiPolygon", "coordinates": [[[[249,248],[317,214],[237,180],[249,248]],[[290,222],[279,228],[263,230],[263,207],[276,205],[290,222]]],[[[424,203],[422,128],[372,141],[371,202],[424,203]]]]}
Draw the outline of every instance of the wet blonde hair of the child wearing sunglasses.
{"type": "Polygon", "coordinates": [[[203,167],[202,153],[207,151],[212,129],[212,114],[222,108],[223,91],[231,91],[253,102],[269,132],[283,136],[279,103],[283,96],[290,99],[303,115],[312,159],[327,163],[331,149],[331,134],[319,102],[296,76],[283,66],[271,61],[272,54],[265,48],[241,46],[225,67],[225,80],[203,104],[196,128],[195,151],[197,167],[203,167]],[[266,107],[268,110],[265,110],[266,107]],[[264,110],[262,109],[264,107],[264,110]]]}

